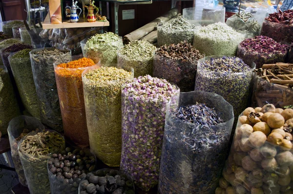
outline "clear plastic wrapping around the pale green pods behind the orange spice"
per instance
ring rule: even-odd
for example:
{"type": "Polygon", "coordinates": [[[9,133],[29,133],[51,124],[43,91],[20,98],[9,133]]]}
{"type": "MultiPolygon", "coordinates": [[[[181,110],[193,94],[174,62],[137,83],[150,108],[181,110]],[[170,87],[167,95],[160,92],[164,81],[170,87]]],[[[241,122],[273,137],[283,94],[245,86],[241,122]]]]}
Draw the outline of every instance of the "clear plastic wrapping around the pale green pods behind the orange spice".
{"type": "Polygon", "coordinates": [[[88,46],[87,39],[81,41],[84,57],[93,59],[94,62],[101,60],[102,66],[111,66],[117,64],[117,51],[123,48],[122,37],[111,44],[95,44],[88,46]]]}

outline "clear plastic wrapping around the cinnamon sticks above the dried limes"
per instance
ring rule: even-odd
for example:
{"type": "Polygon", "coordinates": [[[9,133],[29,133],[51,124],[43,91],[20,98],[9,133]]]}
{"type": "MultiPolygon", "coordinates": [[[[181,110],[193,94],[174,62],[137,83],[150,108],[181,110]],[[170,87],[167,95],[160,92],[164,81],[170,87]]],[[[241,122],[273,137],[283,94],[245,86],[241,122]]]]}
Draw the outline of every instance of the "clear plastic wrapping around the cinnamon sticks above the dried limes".
{"type": "Polygon", "coordinates": [[[276,108],[293,105],[293,89],[270,83],[255,74],[251,105],[263,107],[266,104],[273,104],[276,108]]]}

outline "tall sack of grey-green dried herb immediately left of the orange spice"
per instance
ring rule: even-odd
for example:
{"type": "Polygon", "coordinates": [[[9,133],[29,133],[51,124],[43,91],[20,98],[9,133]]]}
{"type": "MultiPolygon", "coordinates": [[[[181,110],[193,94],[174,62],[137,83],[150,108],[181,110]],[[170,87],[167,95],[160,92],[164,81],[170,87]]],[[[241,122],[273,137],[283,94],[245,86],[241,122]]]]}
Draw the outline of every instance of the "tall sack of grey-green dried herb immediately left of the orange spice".
{"type": "Polygon", "coordinates": [[[56,131],[63,131],[62,116],[54,73],[54,63],[71,61],[69,50],[57,48],[35,49],[30,52],[41,121],[56,131]]]}

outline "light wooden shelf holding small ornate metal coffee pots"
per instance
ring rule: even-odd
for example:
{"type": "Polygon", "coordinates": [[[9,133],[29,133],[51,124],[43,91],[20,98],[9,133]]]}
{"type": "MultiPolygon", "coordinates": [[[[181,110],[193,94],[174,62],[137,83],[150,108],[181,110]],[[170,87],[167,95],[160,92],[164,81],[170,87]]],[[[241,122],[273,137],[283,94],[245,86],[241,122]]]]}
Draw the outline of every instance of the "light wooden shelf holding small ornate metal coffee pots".
{"type": "MultiPolygon", "coordinates": [[[[81,17],[83,15],[81,14],[81,17]]],[[[69,22],[64,21],[61,24],[51,24],[49,14],[47,14],[44,22],[42,23],[43,29],[52,29],[52,28],[86,28],[86,27],[104,27],[109,26],[109,21],[95,21],[87,22],[86,18],[80,18],[78,22],[69,22]]]]}

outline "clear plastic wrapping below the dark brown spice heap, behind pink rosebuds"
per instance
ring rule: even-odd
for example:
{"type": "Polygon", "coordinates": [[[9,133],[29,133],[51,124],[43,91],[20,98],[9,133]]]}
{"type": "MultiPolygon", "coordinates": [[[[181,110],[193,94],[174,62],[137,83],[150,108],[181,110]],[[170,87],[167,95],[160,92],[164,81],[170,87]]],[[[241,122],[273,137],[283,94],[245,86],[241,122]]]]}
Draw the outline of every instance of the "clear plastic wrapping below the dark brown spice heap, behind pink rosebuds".
{"type": "Polygon", "coordinates": [[[154,55],[153,76],[175,83],[181,92],[194,90],[198,61],[182,61],[154,55]]]}

